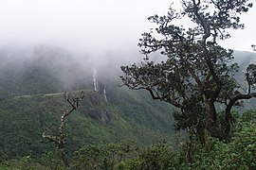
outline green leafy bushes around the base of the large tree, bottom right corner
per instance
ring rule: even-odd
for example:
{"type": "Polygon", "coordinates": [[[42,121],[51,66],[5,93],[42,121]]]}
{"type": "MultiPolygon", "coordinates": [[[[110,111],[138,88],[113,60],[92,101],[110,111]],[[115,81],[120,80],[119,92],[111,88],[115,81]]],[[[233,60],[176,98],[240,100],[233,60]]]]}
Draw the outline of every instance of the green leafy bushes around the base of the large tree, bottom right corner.
{"type": "MultiPolygon", "coordinates": [[[[183,168],[192,169],[253,169],[256,168],[256,111],[247,111],[236,124],[236,132],[229,143],[210,138],[210,150],[205,150],[195,142],[192,161],[183,168]]],[[[185,151],[187,146],[185,146],[185,151]]],[[[186,155],[186,154],[184,154],[186,155]]]]}

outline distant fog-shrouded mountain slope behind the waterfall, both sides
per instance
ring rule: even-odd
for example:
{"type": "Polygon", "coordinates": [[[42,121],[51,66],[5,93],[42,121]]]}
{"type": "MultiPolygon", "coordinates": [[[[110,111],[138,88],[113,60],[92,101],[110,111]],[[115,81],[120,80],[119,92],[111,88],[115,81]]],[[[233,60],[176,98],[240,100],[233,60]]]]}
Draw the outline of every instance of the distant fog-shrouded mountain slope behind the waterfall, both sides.
{"type": "MultiPolygon", "coordinates": [[[[73,54],[63,48],[48,45],[24,50],[0,48],[0,94],[22,95],[93,89],[93,67],[96,67],[97,78],[102,83],[117,79],[122,74],[115,62],[115,56],[119,54],[107,55],[109,60],[94,60],[88,55],[73,54]]],[[[238,82],[246,87],[245,68],[248,63],[256,62],[256,55],[235,51],[234,57],[240,65],[238,82]]]]}

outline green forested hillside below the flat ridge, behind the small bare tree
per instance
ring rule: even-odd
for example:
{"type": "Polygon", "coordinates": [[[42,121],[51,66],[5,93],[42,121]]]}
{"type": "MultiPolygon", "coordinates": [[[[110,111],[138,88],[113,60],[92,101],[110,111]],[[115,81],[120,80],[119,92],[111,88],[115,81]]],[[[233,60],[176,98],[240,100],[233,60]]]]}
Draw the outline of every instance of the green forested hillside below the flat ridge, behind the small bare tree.
{"type": "MultiPolygon", "coordinates": [[[[122,99],[119,98],[119,100],[122,99]]],[[[144,101],[138,102],[148,105],[144,101]]],[[[129,106],[130,102],[126,101],[126,105],[129,106]]],[[[54,144],[43,139],[42,133],[48,129],[47,134],[58,134],[60,117],[66,107],[63,94],[36,94],[2,100],[0,103],[0,149],[10,158],[30,153],[40,157],[46,151],[53,150],[54,144]]],[[[163,119],[158,118],[162,115],[160,110],[151,108],[151,112],[148,112],[148,110],[137,110],[134,106],[126,108],[127,112],[122,112],[122,107],[107,103],[100,93],[85,91],[81,107],[67,118],[68,153],[78,150],[85,144],[119,143],[123,140],[132,140],[141,145],[153,144],[160,139],[171,140],[172,128],[163,130],[163,127],[157,126],[165,124],[165,127],[171,127],[169,121],[163,122],[163,119]],[[125,116],[134,110],[137,110],[137,114],[133,117],[125,116]],[[138,123],[150,121],[140,116],[146,114],[152,114],[151,120],[154,124],[138,123]],[[157,121],[158,124],[155,124],[157,121]]]]}

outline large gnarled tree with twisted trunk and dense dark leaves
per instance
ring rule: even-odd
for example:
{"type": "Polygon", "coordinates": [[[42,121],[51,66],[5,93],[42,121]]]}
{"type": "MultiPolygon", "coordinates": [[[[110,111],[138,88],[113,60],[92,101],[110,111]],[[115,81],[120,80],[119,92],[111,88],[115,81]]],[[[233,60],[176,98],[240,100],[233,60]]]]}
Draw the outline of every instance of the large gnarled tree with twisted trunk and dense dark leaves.
{"type": "MultiPolygon", "coordinates": [[[[251,91],[239,91],[233,78],[238,71],[238,65],[232,63],[233,51],[218,44],[229,39],[229,28],[244,27],[239,16],[252,4],[247,0],[182,0],[181,7],[179,12],[171,6],[167,15],[149,17],[157,26],[157,35],[154,31],[142,34],[138,46],[145,58],[139,64],[121,66],[121,79],[130,89],[147,90],[154,99],[178,108],[175,117],[179,126],[193,128],[201,142],[208,145],[208,136],[217,136],[215,104],[227,106],[225,131],[229,135],[231,108],[239,99],[255,96],[251,91]],[[192,22],[189,28],[177,25],[185,18],[192,22]],[[163,60],[155,62],[152,53],[163,60]]],[[[255,81],[248,84],[252,86],[255,81]]]]}

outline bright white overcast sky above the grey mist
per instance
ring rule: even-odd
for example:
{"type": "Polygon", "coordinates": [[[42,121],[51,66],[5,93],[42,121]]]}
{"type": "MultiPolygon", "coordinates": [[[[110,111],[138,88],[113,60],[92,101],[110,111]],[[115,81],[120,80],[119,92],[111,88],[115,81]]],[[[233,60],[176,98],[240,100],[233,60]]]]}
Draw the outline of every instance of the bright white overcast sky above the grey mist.
{"type": "MultiPolygon", "coordinates": [[[[171,2],[0,0],[0,45],[53,44],[88,53],[136,49],[140,34],[154,26],[147,18],[165,14],[171,2]]],[[[242,18],[246,28],[233,32],[226,47],[251,51],[256,42],[256,0],[252,2],[255,6],[242,18]]]]}

